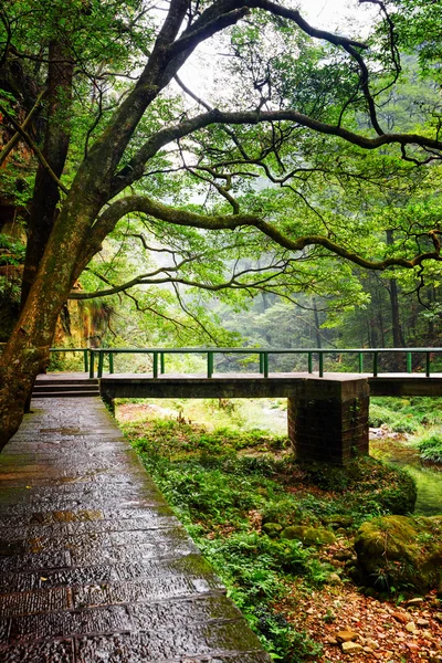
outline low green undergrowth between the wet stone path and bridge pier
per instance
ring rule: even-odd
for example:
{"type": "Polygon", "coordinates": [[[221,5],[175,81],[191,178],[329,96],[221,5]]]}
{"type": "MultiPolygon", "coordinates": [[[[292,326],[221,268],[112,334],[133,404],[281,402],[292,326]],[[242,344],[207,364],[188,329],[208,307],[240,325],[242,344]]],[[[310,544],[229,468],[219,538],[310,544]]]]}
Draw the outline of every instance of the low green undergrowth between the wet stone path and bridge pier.
{"type": "Polygon", "coordinates": [[[294,582],[318,588],[336,569],[319,545],[290,533],[327,532],[334,540],[339,525],[351,536],[368,518],[406,513],[415,498],[408,475],[373,459],[346,470],[303,467],[286,438],[262,430],[210,431],[172,419],[122,425],[271,655],[286,663],[319,655],[277,606],[294,582]]]}

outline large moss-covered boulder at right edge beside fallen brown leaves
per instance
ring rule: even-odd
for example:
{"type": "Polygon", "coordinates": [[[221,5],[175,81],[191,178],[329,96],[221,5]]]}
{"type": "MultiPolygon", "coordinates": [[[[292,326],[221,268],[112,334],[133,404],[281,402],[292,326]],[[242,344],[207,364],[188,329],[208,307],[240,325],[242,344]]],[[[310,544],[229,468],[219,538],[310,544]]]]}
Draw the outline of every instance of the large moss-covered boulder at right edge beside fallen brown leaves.
{"type": "Polygon", "coordinates": [[[442,516],[373,518],[359,528],[355,548],[361,578],[379,590],[442,582],[442,516]]]}

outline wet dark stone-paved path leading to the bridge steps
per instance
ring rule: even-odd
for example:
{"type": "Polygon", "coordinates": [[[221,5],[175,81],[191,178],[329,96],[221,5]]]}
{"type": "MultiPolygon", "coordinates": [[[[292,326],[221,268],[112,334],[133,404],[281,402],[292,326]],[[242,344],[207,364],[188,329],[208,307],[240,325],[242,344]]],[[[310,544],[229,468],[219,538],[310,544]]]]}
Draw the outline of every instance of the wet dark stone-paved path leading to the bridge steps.
{"type": "Polygon", "coordinates": [[[99,398],[0,454],[1,663],[270,661],[99,398]]]}

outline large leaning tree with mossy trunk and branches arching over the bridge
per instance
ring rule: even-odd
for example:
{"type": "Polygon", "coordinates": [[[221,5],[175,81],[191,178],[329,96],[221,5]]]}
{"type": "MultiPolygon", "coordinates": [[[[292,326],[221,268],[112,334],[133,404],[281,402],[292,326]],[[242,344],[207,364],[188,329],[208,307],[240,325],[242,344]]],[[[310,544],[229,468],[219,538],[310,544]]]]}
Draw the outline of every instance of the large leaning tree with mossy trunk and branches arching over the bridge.
{"type": "Polygon", "coordinates": [[[64,4],[9,0],[0,14],[2,122],[39,159],[23,307],[0,364],[0,448],[20,424],[75,280],[128,214],[206,234],[257,233],[264,252],[273,245],[370,270],[440,260],[438,221],[409,221],[380,254],[372,233],[351,225],[351,209],[317,212],[303,192],[315,178],[315,201],[343,182],[385,186],[441,157],[436,115],[407,133],[390,133],[378,117],[400,76],[396,15],[383,3],[369,2],[381,14],[376,48],[311,27],[288,2],[64,4]],[[212,48],[209,57],[221,67],[219,85],[213,98],[200,98],[178,73],[217,39],[222,53],[212,48]],[[41,85],[31,94],[32,77],[41,85]],[[179,90],[189,103],[176,104],[179,90]],[[43,137],[29,128],[40,101],[43,137]],[[381,158],[366,158],[373,151],[381,158]],[[204,204],[177,204],[173,186],[165,191],[173,171],[208,187],[204,204]],[[159,172],[168,178],[161,189],[159,172]],[[271,181],[265,194],[250,185],[256,176],[271,181]]]}

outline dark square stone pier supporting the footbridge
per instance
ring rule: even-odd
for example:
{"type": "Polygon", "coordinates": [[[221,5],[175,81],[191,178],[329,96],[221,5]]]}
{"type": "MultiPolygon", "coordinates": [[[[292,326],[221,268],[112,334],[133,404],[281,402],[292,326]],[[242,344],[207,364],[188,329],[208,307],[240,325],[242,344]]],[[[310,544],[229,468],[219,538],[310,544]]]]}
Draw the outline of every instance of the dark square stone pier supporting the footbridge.
{"type": "Polygon", "coordinates": [[[288,438],[299,461],[345,465],[368,454],[367,379],[308,379],[287,398],[288,438]]]}

